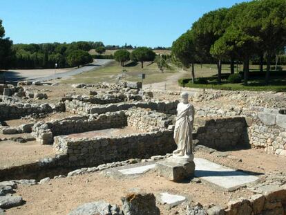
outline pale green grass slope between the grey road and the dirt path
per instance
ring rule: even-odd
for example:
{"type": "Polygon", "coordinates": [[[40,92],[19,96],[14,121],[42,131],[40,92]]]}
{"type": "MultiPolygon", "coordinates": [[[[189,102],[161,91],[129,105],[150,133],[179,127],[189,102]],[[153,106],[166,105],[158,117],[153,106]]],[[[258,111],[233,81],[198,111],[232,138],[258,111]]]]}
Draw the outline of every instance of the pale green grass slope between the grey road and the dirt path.
{"type": "Polygon", "coordinates": [[[63,80],[64,83],[97,83],[97,82],[116,82],[117,77],[125,76],[123,80],[138,82],[141,79],[138,77],[140,74],[146,74],[145,84],[152,84],[155,82],[163,82],[167,77],[178,73],[178,68],[171,65],[171,68],[164,73],[160,72],[157,64],[152,62],[145,62],[144,68],[141,64],[129,62],[126,66],[122,67],[119,63],[113,62],[104,68],[95,69],[86,73],[73,76],[69,80],[63,80]]]}

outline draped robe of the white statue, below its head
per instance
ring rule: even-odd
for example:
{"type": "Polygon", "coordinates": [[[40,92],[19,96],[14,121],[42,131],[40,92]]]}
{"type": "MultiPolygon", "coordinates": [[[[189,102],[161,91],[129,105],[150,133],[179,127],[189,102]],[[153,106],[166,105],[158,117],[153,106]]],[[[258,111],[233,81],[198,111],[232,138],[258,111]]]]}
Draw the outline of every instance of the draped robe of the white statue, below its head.
{"type": "Polygon", "coordinates": [[[192,131],[194,108],[191,104],[178,104],[178,115],[175,122],[174,140],[178,149],[173,151],[178,156],[190,155],[192,153],[192,131]]]}

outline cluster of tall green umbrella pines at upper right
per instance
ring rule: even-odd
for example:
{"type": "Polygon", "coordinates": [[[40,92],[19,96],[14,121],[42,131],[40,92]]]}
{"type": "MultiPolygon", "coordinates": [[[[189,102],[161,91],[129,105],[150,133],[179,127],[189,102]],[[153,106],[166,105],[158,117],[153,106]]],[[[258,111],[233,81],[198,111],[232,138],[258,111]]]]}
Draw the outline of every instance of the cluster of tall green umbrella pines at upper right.
{"type": "Polygon", "coordinates": [[[286,62],[285,46],[286,0],[260,0],[207,12],[173,42],[172,53],[178,64],[192,68],[193,82],[195,63],[216,62],[220,83],[222,63],[231,64],[233,74],[234,65],[241,62],[247,85],[252,61],[260,64],[260,72],[267,65],[268,84],[271,63],[286,62]]]}

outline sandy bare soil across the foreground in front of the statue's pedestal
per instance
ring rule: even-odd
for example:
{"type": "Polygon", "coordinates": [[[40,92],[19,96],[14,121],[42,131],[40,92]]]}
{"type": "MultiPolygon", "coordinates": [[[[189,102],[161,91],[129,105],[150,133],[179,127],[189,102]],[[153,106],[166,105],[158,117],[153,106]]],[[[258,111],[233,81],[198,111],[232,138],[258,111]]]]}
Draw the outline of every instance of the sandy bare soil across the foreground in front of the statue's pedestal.
{"type": "MultiPolygon", "coordinates": [[[[26,205],[8,209],[7,214],[68,214],[71,209],[79,205],[102,199],[121,206],[121,196],[134,188],[154,194],[162,191],[181,194],[202,205],[211,203],[224,205],[231,198],[251,196],[251,192],[246,189],[229,193],[206,183],[173,183],[157,176],[154,171],[139,178],[128,179],[106,178],[103,174],[95,173],[50,180],[43,185],[30,187],[20,185],[17,195],[21,195],[27,201],[26,205]]],[[[173,214],[176,210],[166,209],[164,205],[158,207],[163,215],[173,214]]]]}

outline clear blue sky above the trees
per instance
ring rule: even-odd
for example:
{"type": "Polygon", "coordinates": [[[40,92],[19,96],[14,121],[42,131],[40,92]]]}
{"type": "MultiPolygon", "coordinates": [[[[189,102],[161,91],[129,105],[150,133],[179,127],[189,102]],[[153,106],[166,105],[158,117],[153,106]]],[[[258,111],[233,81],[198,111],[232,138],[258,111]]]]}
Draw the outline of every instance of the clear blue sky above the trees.
{"type": "Polygon", "coordinates": [[[171,46],[209,10],[240,0],[0,0],[6,37],[17,43],[103,41],[171,46]]]}

